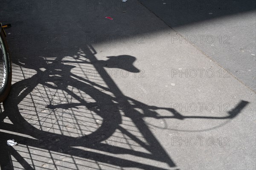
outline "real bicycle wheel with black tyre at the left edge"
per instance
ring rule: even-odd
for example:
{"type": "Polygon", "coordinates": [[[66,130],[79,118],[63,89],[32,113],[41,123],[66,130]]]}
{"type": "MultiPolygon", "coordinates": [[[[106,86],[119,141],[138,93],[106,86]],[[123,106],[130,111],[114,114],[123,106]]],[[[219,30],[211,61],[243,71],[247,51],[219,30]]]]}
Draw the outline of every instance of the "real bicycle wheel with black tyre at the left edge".
{"type": "Polygon", "coordinates": [[[12,82],[12,66],[3,30],[0,31],[0,102],[9,94],[12,82]]]}

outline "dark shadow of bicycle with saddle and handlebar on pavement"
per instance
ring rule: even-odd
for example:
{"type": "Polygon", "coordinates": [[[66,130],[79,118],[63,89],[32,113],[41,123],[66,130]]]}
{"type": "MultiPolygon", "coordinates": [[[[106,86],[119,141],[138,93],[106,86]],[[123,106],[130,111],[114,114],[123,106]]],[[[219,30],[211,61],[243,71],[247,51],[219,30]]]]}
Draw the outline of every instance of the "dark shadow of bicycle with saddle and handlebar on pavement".
{"type": "MultiPolygon", "coordinates": [[[[129,72],[138,72],[139,69],[133,65],[135,57],[123,55],[120,57],[108,57],[108,60],[103,61],[96,59],[96,51],[93,50],[92,46],[89,45],[87,48],[83,48],[83,51],[84,55],[73,57],[73,59],[72,57],[67,59],[65,57],[56,57],[49,60],[38,57],[37,62],[41,63],[41,65],[37,65],[37,68],[35,68],[35,65],[30,65],[29,60],[25,58],[20,58],[18,62],[15,62],[21,66],[33,68],[36,74],[12,85],[12,91],[8,99],[3,103],[4,112],[1,114],[0,120],[3,121],[8,116],[12,124],[1,122],[1,129],[17,133],[1,132],[1,136],[4,136],[2,138],[3,141],[14,138],[22,146],[38,148],[38,152],[42,152],[40,150],[43,149],[49,152],[66,153],[71,157],[76,156],[117,167],[168,169],[118,158],[111,154],[128,154],[129,156],[160,161],[168,164],[169,167],[176,167],[143,118],[180,120],[192,118],[233,119],[248,104],[246,101],[241,101],[233,111],[229,112],[229,116],[224,117],[182,116],[173,108],[148,106],[122,94],[113,79],[106,76],[107,72],[104,69],[104,67],[120,68],[129,72]],[[73,72],[74,69],[81,68],[84,64],[87,65],[89,70],[87,75],[84,72],[73,72]],[[92,74],[92,71],[97,72],[97,74],[92,74]],[[90,76],[93,79],[90,79],[90,76]],[[93,81],[95,78],[97,80],[93,81]],[[102,79],[100,82],[99,78],[102,79]],[[77,90],[74,91],[74,89],[77,90]],[[58,96],[58,100],[52,99],[55,96],[58,96]],[[75,102],[72,102],[72,99],[75,102]],[[27,102],[23,103],[26,100],[27,102]],[[29,102],[32,102],[32,106],[36,108],[35,110],[28,105],[29,102]],[[24,107],[21,107],[22,105],[24,107]],[[38,110],[38,105],[43,106],[41,111],[38,110]],[[85,107],[85,109],[81,107],[85,107]],[[172,115],[161,116],[157,113],[158,109],[169,111],[172,115]],[[124,124],[122,117],[129,119],[128,124],[132,123],[131,126],[133,127],[131,129],[136,128],[136,133],[129,127],[125,128],[122,125],[124,124]],[[30,120],[33,121],[31,122],[30,120]],[[67,130],[67,125],[77,125],[78,127],[75,127],[75,130],[67,130]],[[83,125],[90,127],[83,128],[83,125]],[[47,130],[48,127],[51,128],[47,130]],[[94,127],[94,130],[91,130],[91,127],[94,127]],[[54,129],[59,131],[54,131],[54,129]],[[72,134],[75,134],[76,130],[80,133],[74,137],[72,134]],[[106,142],[111,136],[116,135],[117,130],[122,133],[122,139],[133,141],[132,143],[126,143],[130,148],[106,142]],[[68,131],[68,133],[65,131],[68,131]],[[141,136],[137,135],[138,132],[141,136]],[[32,136],[34,139],[21,136],[19,133],[32,136]],[[87,135],[83,135],[84,133],[87,135]],[[87,150],[76,147],[85,147],[87,150]]],[[[127,124],[127,122],[125,123],[127,124]]],[[[116,137],[121,138],[118,135],[116,137]]],[[[36,168],[35,165],[29,164],[14,147],[8,147],[6,144],[1,144],[1,147],[1,150],[3,150],[1,158],[3,159],[0,163],[3,169],[12,167],[13,160],[10,159],[10,155],[24,169],[36,168]]],[[[30,157],[33,159],[32,154],[30,154],[30,157]]],[[[53,167],[57,169],[58,165],[53,163],[53,167]]]]}

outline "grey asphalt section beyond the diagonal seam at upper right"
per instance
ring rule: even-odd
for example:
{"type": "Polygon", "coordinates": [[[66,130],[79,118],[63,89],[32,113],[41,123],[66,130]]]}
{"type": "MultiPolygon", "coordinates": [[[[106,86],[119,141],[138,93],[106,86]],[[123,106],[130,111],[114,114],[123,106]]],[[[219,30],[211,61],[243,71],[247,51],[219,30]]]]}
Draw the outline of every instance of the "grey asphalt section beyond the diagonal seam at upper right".
{"type": "Polygon", "coordinates": [[[256,91],[256,1],[140,1],[182,35],[172,41],[194,44],[256,91]]]}

